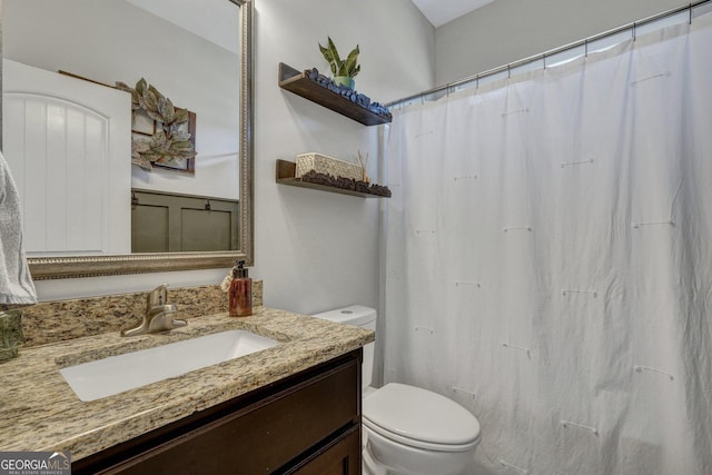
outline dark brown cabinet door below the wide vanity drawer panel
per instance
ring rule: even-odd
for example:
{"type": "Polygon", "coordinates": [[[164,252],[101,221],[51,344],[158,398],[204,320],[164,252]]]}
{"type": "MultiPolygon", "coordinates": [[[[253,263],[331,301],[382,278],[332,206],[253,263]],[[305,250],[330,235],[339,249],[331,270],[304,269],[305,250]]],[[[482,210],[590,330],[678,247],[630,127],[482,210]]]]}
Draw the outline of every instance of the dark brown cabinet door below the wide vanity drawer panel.
{"type": "Polygon", "coordinates": [[[360,426],[317,452],[289,475],[360,475],[360,426]]]}

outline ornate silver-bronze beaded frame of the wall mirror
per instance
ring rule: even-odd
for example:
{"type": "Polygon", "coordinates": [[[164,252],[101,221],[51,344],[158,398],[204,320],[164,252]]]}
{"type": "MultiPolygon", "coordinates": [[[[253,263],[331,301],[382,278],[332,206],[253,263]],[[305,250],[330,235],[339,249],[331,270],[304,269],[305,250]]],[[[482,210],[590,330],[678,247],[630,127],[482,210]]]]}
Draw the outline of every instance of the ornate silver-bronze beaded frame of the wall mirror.
{"type": "MultiPolygon", "coordinates": [[[[228,0],[239,7],[240,14],[240,192],[239,192],[239,250],[206,253],[146,253],[91,257],[29,258],[34,280],[71,277],[95,277],[117,274],[162,273],[230,267],[235,260],[245,259],[254,265],[254,46],[253,29],[255,0],[228,0]]],[[[2,0],[0,0],[0,19],[2,0]]],[[[0,22],[0,58],[2,57],[2,30],[0,22]]],[[[0,61],[0,90],[2,89],[2,62],[0,61]]],[[[2,99],[0,96],[0,111],[2,99]]],[[[2,118],[0,115],[0,147],[2,118]]]]}

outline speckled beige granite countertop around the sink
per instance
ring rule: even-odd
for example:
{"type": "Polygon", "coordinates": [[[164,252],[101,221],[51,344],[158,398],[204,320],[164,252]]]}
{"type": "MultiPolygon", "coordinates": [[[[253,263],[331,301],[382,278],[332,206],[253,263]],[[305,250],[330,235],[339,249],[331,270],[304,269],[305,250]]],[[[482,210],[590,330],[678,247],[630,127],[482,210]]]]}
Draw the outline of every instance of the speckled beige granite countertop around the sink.
{"type": "Polygon", "coordinates": [[[79,459],[373,340],[372,330],[258,307],[251,317],[204,316],[165,334],[122,338],[112,331],[21,348],[18,358],[0,365],[0,451],[71,451],[72,459],[79,459]],[[279,345],[88,403],[59,373],[227,329],[246,329],[279,345]]]}

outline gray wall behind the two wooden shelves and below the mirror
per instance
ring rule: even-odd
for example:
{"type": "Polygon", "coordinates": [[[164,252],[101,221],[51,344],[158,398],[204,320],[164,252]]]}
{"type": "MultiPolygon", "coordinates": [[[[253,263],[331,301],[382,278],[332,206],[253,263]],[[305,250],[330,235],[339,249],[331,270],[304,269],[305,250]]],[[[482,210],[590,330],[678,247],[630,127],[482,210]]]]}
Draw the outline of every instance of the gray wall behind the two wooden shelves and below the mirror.
{"type": "MultiPolygon", "coordinates": [[[[328,72],[317,42],[360,47],[356,89],[387,102],[435,86],[435,29],[411,0],[256,0],[255,238],[250,276],[265,305],[315,313],[378,304],[378,202],[278,186],[275,161],[319,151],[368,152],[377,181],[378,128],[364,127],[277,86],[280,61],[328,72]]],[[[227,269],[37,283],[42,300],[218,284],[227,269]]]]}

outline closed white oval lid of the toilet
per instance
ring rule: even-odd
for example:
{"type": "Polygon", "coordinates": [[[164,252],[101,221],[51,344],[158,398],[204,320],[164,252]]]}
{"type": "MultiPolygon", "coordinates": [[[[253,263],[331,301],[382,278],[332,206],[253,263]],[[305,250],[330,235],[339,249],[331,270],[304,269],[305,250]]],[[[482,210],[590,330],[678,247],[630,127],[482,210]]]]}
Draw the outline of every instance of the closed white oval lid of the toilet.
{"type": "Polygon", "coordinates": [[[383,428],[399,438],[463,446],[479,437],[479,423],[467,409],[414,386],[389,383],[366,397],[363,409],[369,427],[383,428]]]}

